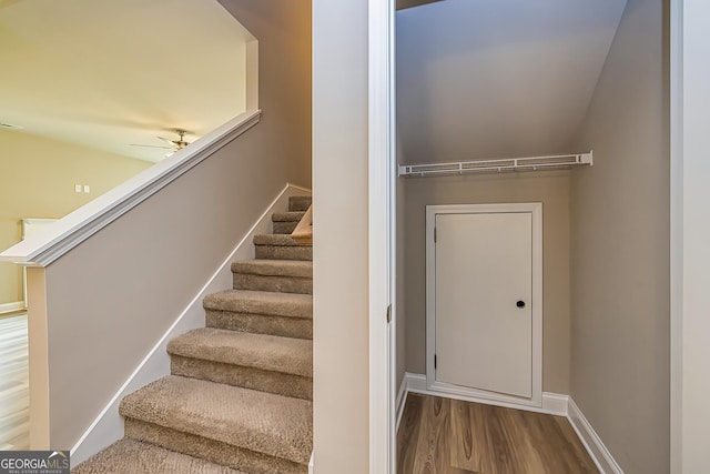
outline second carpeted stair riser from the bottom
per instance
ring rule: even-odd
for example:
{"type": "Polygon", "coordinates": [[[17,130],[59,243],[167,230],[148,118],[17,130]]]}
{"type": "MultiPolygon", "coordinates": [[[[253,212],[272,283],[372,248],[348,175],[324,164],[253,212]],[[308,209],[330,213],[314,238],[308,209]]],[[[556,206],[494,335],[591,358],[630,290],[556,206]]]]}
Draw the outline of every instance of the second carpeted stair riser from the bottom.
{"type": "Polygon", "coordinates": [[[171,356],[171,372],[192,379],[313,400],[313,379],[201,359],[171,356]]]}

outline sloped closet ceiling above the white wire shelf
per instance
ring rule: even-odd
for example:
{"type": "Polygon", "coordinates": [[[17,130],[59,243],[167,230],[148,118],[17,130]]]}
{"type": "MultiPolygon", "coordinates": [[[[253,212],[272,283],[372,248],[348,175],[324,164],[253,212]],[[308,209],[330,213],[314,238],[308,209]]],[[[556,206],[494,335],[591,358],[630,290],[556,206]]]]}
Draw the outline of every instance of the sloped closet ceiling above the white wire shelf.
{"type": "Polygon", "coordinates": [[[568,150],[626,0],[445,0],[397,13],[399,161],[568,150]]]}

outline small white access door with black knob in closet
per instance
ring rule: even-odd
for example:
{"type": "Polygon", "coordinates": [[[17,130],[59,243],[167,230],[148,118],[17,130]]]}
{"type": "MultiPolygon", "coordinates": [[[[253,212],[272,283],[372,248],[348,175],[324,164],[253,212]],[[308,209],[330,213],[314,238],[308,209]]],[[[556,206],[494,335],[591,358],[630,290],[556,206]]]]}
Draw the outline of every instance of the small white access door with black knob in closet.
{"type": "Polygon", "coordinates": [[[435,384],[536,395],[534,309],[541,302],[534,250],[540,242],[537,216],[525,206],[433,213],[435,384]]]}

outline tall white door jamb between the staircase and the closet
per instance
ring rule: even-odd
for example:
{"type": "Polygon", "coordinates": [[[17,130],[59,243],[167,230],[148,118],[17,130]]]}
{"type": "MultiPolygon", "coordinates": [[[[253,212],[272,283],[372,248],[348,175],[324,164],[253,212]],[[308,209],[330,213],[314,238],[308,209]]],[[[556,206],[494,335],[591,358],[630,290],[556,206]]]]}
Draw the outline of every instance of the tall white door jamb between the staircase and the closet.
{"type": "Polygon", "coordinates": [[[369,472],[396,473],[395,2],[368,0],[369,472]],[[389,309],[389,310],[388,310],[389,309]],[[387,317],[389,314],[390,319],[387,317]]]}

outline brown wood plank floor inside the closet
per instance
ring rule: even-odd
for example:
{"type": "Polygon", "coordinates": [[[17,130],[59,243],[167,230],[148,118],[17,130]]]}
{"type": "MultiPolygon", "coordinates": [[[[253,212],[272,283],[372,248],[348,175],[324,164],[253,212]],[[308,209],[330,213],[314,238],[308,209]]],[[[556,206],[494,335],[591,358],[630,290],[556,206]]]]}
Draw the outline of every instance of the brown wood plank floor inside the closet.
{"type": "Polygon", "coordinates": [[[399,474],[598,473],[567,418],[410,393],[399,474]]]}

